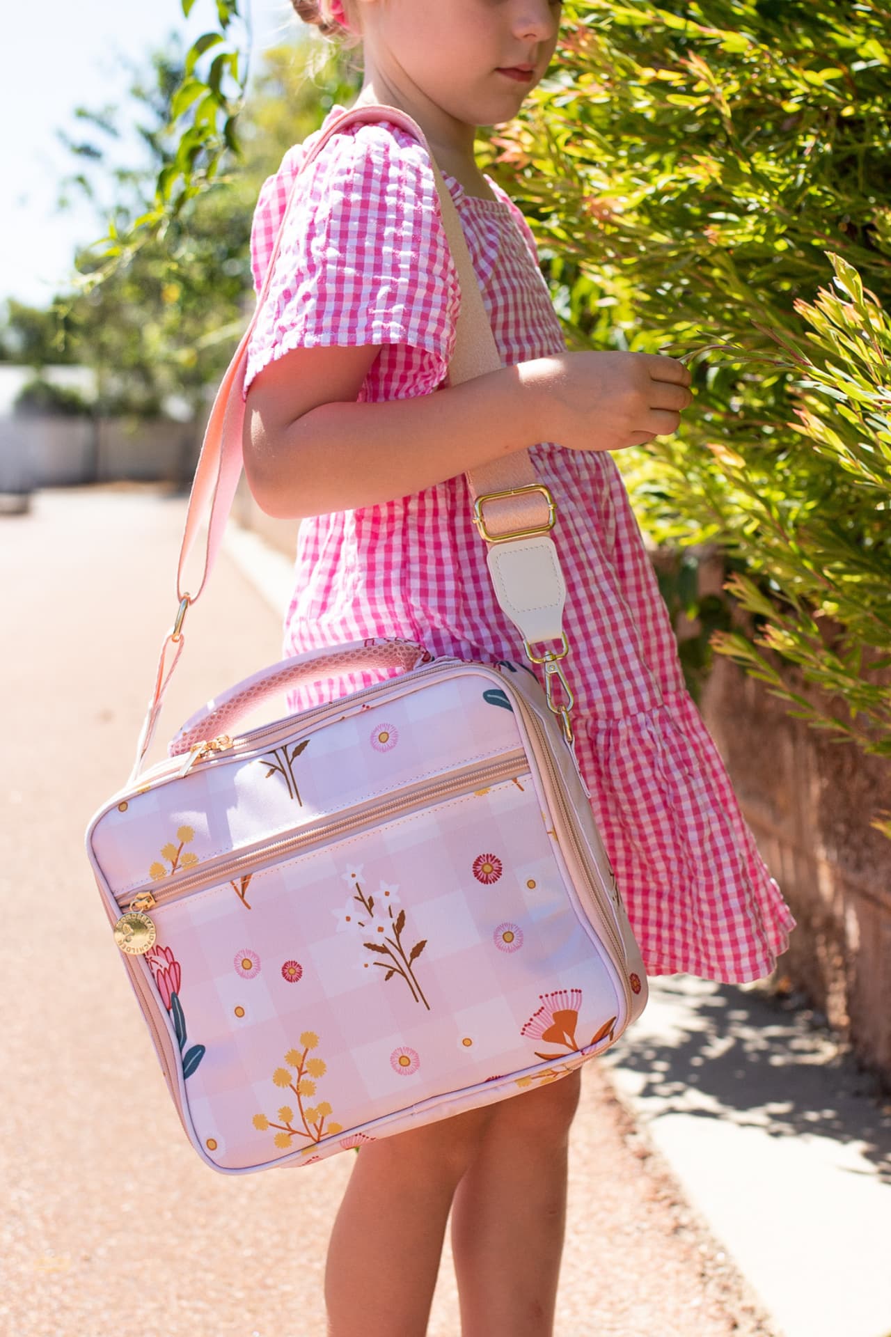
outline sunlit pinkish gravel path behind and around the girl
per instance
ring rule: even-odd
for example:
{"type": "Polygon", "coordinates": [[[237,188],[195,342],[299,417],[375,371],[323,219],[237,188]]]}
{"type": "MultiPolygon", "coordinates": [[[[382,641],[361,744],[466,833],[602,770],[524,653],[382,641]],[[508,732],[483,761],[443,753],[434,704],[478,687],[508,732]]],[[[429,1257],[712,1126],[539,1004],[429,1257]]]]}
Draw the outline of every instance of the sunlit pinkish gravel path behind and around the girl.
{"type": "MultiPolygon", "coordinates": [[[[0,519],[0,568],[15,572],[0,666],[8,1337],[325,1333],[326,1239],[351,1157],[298,1183],[202,1165],[83,848],[87,821],[130,771],[175,612],[183,519],[182,497],[151,488],[43,492],[29,515],[0,519]]],[[[279,658],[277,619],[227,559],[186,632],[162,739],[279,658]]],[[[151,759],[162,754],[156,742],[151,759]]],[[[779,1337],[593,1063],[572,1134],[556,1333],[779,1337]]],[[[429,1337],[460,1337],[448,1245],[429,1337]]]]}

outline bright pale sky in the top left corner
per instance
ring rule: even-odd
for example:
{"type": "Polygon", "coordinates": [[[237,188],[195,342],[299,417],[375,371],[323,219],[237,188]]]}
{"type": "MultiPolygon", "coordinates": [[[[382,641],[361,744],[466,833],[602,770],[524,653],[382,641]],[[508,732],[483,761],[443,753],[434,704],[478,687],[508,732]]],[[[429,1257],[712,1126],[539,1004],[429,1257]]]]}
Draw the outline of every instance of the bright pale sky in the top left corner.
{"type": "MultiPolygon", "coordinates": [[[[85,205],[59,213],[71,159],[57,142],[77,106],[123,102],[127,60],[140,62],[171,31],[188,40],[212,27],[212,0],[188,23],[179,0],[37,0],[5,7],[0,80],[0,303],[41,306],[64,286],[75,246],[104,227],[85,205]]],[[[255,51],[298,32],[290,0],[252,0],[255,51]]]]}

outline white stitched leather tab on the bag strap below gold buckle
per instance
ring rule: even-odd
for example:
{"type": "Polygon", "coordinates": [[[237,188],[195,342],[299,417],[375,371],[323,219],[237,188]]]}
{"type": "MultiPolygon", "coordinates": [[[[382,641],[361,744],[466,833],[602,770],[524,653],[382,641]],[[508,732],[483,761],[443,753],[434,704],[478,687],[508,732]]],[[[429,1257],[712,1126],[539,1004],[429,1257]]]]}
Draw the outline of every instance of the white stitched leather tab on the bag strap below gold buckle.
{"type": "Polygon", "coordinates": [[[560,640],[566,582],[546,535],[493,543],[486,554],[498,603],[526,640],[560,640]]]}

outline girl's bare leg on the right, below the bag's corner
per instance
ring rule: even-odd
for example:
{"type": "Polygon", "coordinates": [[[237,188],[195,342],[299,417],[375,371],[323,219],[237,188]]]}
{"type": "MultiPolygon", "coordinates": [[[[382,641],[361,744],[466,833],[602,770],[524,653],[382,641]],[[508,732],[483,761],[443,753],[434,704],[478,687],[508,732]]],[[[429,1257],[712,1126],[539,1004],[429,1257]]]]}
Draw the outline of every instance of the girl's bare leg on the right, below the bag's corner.
{"type": "Polygon", "coordinates": [[[454,1195],[461,1337],[552,1337],[581,1071],[490,1106],[454,1195]]]}

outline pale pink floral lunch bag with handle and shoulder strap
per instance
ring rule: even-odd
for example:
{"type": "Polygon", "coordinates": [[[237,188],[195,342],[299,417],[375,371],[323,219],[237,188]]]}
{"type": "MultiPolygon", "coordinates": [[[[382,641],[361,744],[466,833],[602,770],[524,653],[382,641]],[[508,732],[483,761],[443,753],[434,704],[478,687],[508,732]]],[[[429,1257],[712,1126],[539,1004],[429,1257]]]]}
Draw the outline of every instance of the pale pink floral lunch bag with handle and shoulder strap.
{"type": "MultiPolygon", "coordinates": [[[[414,120],[379,104],[354,106],[329,135],[355,119],[405,126],[429,151],[414,120]]],[[[462,291],[457,384],[501,358],[433,166],[462,291]]],[[[546,690],[524,663],[335,644],[214,698],[143,770],[240,475],[248,337],[208,421],[134,769],[87,830],[179,1118],[222,1174],[311,1165],[553,1082],[647,1001],[573,750],[554,504],[525,449],[468,483],[498,602],[546,690]],[[558,644],[537,655],[544,642],[558,644]],[[243,730],[289,689],[354,673],[379,682],[243,730]]]]}

